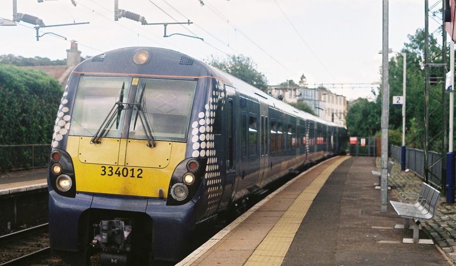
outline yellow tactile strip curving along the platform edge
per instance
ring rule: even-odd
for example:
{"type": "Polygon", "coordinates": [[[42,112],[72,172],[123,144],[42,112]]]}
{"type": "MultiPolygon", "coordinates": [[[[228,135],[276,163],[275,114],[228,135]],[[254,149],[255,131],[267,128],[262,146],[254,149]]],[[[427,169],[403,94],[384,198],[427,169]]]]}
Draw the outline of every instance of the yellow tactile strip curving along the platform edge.
{"type": "Polygon", "coordinates": [[[344,156],[332,163],[299,194],[273,229],[269,231],[268,235],[256,247],[255,251],[253,251],[252,255],[244,264],[245,266],[282,264],[294,235],[301,225],[302,219],[306,216],[314,198],[335,168],[349,158],[350,156],[344,156]]]}

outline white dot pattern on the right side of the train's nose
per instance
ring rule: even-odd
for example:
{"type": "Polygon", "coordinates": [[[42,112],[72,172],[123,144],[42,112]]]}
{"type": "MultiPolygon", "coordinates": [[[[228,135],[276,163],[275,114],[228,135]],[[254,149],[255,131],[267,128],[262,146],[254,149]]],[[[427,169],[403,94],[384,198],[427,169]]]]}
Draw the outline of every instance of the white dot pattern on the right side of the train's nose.
{"type": "Polygon", "coordinates": [[[206,195],[208,200],[207,214],[214,213],[217,209],[223,191],[219,164],[214,149],[213,124],[215,114],[223,110],[225,104],[224,86],[217,82],[209,94],[204,110],[198,113],[198,120],[192,122],[192,157],[208,157],[206,173],[206,195]],[[220,104],[219,104],[220,103],[220,104]],[[221,106],[219,108],[219,106],[221,106]]]}

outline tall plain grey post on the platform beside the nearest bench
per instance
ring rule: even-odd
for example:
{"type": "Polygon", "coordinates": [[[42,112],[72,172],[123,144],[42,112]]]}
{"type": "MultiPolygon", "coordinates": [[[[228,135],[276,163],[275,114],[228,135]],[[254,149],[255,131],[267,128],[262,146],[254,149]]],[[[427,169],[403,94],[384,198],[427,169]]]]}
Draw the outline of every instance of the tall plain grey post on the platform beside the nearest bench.
{"type": "Polygon", "coordinates": [[[388,52],[388,0],[383,0],[381,212],[388,210],[388,117],[390,113],[388,52]]]}

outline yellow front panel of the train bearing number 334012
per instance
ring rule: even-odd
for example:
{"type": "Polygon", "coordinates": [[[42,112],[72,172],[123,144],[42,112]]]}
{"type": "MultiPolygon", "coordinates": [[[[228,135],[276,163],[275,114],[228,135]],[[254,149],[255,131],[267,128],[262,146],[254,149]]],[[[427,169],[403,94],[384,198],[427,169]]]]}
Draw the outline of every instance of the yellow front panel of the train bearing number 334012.
{"type": "MultiPolygon", "coordinates": [[[[81,150],[80,145],[81,137],[69,136],[67,144],[67,152],[70,154],[73,165],[74,174],[76,177],[76,190],[78,192],[92,192],[92,193],[105,193],[105,194],[117,194],[117,195],[129,195],[129,196],[143,196],[143,197],[159,197],[159,189],[164,190],[165,197],[168,195],[169,182],[177,164],[182,161],[185,157],[186,143],[179,142],[163,142],[170,146],[170,151],[166,154],[162,154],[162,159],[169,158],[168,163],[163,168],[152,168],[142,165],[127,165],[131,156],[143,157],[144,161],[147,161],[147,155],[140,153],[134,153],[125,158],[125,165],[116,164],[94,164],[83,162],[79,159],[78,152],[81,150]],[[171,145],[169,145],[171,143],[171,145]]],[[[127,145],[126,140],[112,139],[119,143],[120,151],[128,153],[124,145],[127,145]]],[[[103,140],[102,140],[103,143],[103,140]]],[[[138,144],[139,145],[139,144],[138,144]]],[[[145,146],[145,145],[144,145],[145,146]]],[[[147,149],[152,150],[151,148],[147,149]]],[[[84,147],[92,148],[92,146],[84,147]]],[[[93,148],[92,148],[93,149],[93,148]]],[[[118,150],[119,151],[119,150],[118,150]]],[[[110,157],[112,154],[98,154],[102,159],[103,156],[110,157]]],[[[119,154],[119,157],[122,157],[119,154]]],[[[160,157],[160,155],[155,155],[160,157]]],[[[149,157],[150,160],[154,158],[149,157]]],[[[122,162],[123,160],[119,160],[122,162]]],[[[150,164],[149,164],[150,165],[150,164]]]]}

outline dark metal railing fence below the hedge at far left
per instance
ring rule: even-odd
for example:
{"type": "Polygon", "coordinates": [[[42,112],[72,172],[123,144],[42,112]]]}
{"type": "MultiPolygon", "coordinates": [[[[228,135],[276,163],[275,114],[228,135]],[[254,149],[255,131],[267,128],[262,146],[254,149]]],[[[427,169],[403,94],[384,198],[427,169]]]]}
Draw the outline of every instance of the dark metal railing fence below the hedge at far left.
{"type": "Polygon", "coordinates": [[[51,145],[0,145],[0,172],[46,167],[51,145]]]}

